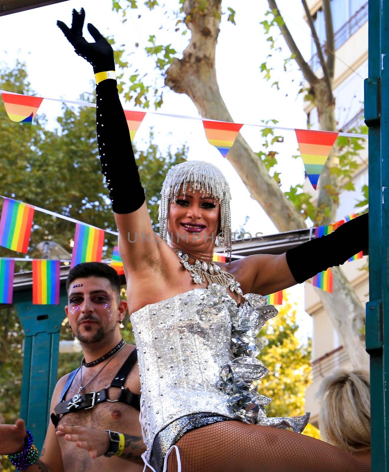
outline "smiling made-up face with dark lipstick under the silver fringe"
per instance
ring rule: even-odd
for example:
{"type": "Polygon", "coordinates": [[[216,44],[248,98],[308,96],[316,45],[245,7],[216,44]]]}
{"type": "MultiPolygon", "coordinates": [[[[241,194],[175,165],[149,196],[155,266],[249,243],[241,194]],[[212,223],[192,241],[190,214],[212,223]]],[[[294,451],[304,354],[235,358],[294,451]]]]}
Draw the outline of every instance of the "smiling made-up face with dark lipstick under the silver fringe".
{"type": "Polygon", "coordinates": [[[184,249],[213,251],[220,221],[219,201],[202,191],[181,188],[169,206],[168,231],[172,242],[184,249]]]}

